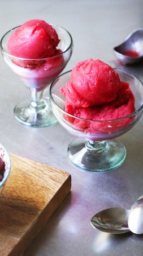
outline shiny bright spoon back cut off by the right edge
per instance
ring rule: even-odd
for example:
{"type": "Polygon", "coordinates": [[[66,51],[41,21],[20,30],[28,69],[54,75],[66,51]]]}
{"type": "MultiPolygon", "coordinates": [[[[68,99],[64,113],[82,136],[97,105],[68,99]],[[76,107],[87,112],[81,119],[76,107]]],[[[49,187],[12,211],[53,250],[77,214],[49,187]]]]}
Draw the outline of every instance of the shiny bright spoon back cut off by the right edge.
{"type": "Polygon", "coordinates": [[[143,196],[132,205],[128,217],[129,229],[135,234],[143,233],[143,196]]]}

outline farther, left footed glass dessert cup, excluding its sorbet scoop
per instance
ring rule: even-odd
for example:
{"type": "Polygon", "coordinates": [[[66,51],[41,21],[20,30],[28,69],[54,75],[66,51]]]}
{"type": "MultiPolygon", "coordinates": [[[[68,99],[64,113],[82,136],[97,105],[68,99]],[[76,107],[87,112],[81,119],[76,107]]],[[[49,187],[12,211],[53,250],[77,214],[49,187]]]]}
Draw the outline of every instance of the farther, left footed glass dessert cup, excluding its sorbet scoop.
{"type": "Polygon", "coordinates": [[[59,55],[45,59],[23,59],[8,53],[7,43],[10,35],[18,28],[12,28],[1,39],[1,52],[8,66],[18,75],[29,90],[29,100],[19,102],[14,108],[15,118],[27,126],[44,127],[57,123],[50,109],[49,92],[44,97],[45,90],[66,67],[71,58],[73,41],[70,33],[63,27],[51,24],[57,31],[60,42],[59,55]]]}

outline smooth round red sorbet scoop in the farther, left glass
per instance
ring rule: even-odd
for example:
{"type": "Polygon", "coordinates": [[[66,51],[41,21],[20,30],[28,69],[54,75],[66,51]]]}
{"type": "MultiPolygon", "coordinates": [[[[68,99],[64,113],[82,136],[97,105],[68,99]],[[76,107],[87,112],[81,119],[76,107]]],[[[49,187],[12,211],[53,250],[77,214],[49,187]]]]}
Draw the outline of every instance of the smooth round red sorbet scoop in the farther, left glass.
{"type": "Polygon", "coordinates": [[[8,52],[24,59],[43,59],[57,55],[57,32],[44,20],[25,22],[8,40],[8,52]]]}

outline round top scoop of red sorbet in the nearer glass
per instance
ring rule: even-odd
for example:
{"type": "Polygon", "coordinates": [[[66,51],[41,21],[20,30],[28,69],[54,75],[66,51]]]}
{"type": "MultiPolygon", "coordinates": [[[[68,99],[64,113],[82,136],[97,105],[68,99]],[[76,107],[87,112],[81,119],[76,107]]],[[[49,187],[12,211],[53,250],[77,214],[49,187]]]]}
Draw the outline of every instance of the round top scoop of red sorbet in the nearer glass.
{"type": "Polygon", "coordinates": [[[122,84],[118,73],[101,60],[84,60],[71,72],[71,81],[60,92],[77,108],[114,101],[122,84]]]}

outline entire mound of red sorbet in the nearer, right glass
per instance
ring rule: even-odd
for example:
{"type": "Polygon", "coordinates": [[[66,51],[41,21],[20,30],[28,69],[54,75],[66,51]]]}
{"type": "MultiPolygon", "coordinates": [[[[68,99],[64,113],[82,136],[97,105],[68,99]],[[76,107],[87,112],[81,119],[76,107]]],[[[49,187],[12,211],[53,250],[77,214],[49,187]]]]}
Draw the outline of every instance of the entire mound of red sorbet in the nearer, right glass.
{"type": "Polygon", "coordinates": [[[64,110],[70,123],[86,132],[109,131],[128,125],[132,118],[119,118],[135,112],[135,98],[129,84],[120,81],[118,73],[101,60],[85,60],[71,71],[71,81],[60,88],[66,97],[64,110]],[[86,119],[91,122],[86,122],[86,119]],[[116,122],[106,122],[117,119],[116,122]],[[92,122],[99,121],[99,122],[92,122]]]}

